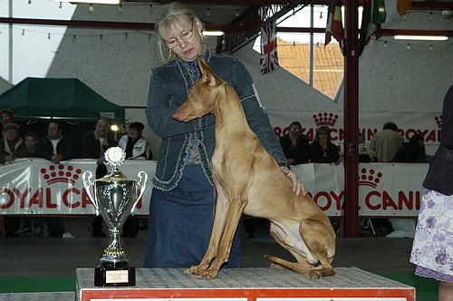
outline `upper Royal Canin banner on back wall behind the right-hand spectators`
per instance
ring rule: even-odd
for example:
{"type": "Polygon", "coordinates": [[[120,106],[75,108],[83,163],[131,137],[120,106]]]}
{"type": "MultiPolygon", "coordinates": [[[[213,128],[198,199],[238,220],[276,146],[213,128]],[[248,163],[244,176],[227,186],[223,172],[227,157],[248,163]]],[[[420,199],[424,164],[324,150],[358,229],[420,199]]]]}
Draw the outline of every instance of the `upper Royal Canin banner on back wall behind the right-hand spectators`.
{"type": "MultiPolygon", "coordinates": [[[[275,134],[282,137],[288,132],[288,126],[292,121],[302,124],[302,131],[310,141],[313,141],[316,129],[322,125],[331,128],[332,141],[341,145],[344,141],[343,113],[342,112],[306,112],[266,110],[275,134]]],[[[435,112],[361,112],[359,115],[359,131],[364,134],[367,142],[371,141],[372,135],[382,130],[385,122],[392,121],[398,125],[400,134],[406,141],[414,133],[423,136],[427,154],[434,154],[440,142],[440,130],[442,129],[442,114],[435,112]]],[[[342,148],[343,150],[343,148],[342,148]]]]}

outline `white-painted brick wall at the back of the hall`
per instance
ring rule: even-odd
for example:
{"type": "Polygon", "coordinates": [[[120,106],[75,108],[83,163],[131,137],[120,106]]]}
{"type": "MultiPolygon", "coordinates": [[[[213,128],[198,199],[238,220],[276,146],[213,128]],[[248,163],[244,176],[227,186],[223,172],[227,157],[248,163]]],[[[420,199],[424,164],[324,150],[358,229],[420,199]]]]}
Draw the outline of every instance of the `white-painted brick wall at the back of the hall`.
{"type": "MultiPolygon", "coordinates": [[[[143,5],[118,8],[87,6],[77,8],[74,19],[154,22],[159,5],[144,9],[143,5]],[[133,10],[133,14],[132,13],[133,10]],[[134,15],[133,20],[131,15],[134,15]]],[[[391,24],[400,28],[453,29],[453,18],[413,13],[391,24]]],[[[106,29],[68,29],[58,48],[47,77],[77,77],[110,102],[129,108],[126,116],[147,124],[144,107],[147,103],[151,68],[159,64],[156,35],[149,32],[106,29]],[[126,39],[126,34],[128,38],[126,39]],[[73,35],[76,42],[73,42],[73,35]],[[100,35],[102,34],[102,41],[100,35]],[[138,107],[138,108],[137,108],[138,107]]],[[[448,86],[453,83],[453,42],[396,43],[389,37],[371,43],[360,60],[361,112],[441,112],[441,103],[448,86]],[[382,41],[388,41],[384,47],[382,41]]],[[[261,100],[268,109],[304,111],[342,111],[343,102],[335,103],[309,85],[280,68],[261,75],[259,55],[249,47],[234,53],[252,74],[261,100]]],[[[398,122],[398,121],[397,121],[398,122]]],[[[159,138],[147,127],[144,135],[151,141],[155,158],[159,138]]]]}

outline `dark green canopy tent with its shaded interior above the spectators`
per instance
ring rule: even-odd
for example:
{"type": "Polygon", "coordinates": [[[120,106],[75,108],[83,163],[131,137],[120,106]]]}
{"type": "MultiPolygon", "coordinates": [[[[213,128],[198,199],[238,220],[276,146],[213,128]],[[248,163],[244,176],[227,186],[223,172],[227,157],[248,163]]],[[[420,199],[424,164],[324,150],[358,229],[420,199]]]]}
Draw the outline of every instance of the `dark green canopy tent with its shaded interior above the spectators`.
{"type": "Polygon", "coordinates": [[[10,109],[22,133],[47,135],[49,122],[59,121],[63,134],[72,136],[80,152],[82,134],[93,131],[96,121],[105,118],[122,124],[125,109],[104,99],[75,78],[32,78],[17,83],[0,95],[0,108],[10,109]]]}

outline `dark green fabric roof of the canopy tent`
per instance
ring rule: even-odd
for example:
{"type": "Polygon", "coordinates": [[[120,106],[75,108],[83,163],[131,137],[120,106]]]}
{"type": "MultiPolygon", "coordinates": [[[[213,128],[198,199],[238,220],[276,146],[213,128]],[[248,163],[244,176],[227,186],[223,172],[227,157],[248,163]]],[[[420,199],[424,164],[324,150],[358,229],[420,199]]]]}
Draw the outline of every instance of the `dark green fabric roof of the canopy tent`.
{"type": "Polygon", "coordinates": [[[12,110],[15,121],[96,121],[101,117],[124,121],[124,107],[76,78],[27,77],[0,95],[0,108],[12,110]]]}

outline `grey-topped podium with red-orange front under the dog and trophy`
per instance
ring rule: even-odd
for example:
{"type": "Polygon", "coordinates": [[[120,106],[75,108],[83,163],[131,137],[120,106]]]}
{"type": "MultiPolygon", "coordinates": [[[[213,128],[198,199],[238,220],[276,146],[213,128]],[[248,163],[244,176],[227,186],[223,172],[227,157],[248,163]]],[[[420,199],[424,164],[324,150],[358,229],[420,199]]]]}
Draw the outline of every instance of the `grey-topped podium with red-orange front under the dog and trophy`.
{"type": "Polygon", "coordinates": [[[182,268],[137,268],[137,286],[95,287],[94,269],[78,268],[77,300],[146,301],[415,301],[415,288],[357,267],[334,277],[308,279],[286,269],[223,268],[211,280],[182,268]]]}

